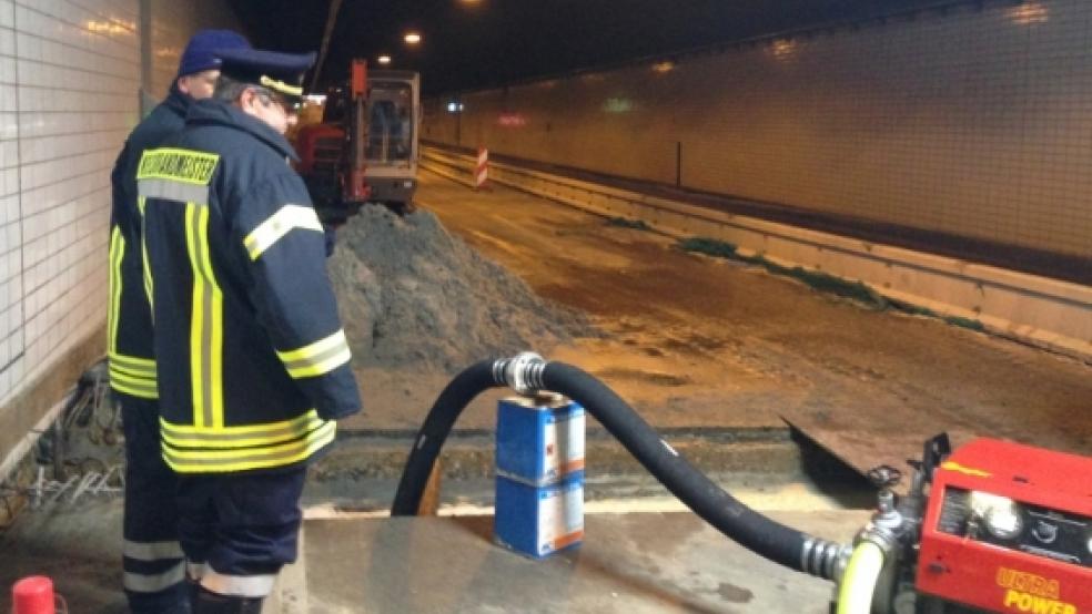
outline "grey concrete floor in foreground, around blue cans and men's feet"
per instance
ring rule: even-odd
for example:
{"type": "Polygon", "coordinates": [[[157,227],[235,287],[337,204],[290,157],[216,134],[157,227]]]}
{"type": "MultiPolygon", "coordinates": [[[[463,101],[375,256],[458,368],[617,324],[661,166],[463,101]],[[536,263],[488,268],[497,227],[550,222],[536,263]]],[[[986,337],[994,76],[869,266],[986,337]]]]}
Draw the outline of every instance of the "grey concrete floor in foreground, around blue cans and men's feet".
{"type": "MultiPolygon", "coordinates": [[[[839,543],[868,518],[815,493],[740,499],[839,543]],[[810,509],[800,511],[801,503],[810,509]]],[[[282,572],[264,614],[828,611],[832,583],[765,561],[691,513],[657,511],[671,509],[663,504],[593,504],[584,543],[543,561],[495,545],[488,515],[385,519],[320,510],[305,521],[300,562],[282,572]]],[[[127,612],[119,499],[21,518],[0,549],[0,585],[46,574],[69,612],[127,612]]]]}

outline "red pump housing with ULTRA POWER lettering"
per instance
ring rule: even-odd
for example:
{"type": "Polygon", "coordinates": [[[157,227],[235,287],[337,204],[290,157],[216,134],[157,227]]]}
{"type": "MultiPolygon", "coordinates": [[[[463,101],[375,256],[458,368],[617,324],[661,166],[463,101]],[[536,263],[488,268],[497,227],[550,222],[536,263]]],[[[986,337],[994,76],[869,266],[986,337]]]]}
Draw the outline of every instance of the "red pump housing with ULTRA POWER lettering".
{"type": "Polygon", "coordinates": [[[933,472],[923,595],[997,612],[1092,612],[1092,459],[979,439],[933,472]]]}

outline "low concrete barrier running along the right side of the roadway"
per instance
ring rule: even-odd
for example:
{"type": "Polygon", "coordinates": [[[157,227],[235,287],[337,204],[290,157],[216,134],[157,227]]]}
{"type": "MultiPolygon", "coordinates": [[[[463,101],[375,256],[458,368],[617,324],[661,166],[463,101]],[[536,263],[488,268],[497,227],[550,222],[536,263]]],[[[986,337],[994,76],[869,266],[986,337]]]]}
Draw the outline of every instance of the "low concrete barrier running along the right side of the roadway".
{"type": "MultiPolygon", "coordinates": [[[[422,149],[422,167],[473,187],[475,158],[422,149]]],[[[1092,287],[756,217],[712,211],[492,162],[489,180],[605,217],[643,221],[678,238],[708,237],[761,257],[861,283],[889,299],[1092,361],[1092,287]]]]}

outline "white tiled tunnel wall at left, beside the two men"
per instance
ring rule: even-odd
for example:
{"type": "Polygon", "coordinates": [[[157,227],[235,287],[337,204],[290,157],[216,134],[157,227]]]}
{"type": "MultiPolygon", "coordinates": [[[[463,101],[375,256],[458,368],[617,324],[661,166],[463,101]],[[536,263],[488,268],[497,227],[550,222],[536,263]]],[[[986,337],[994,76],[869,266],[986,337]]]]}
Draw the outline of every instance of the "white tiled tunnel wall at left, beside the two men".
{"type": "Polygon", "coordinates": [[[230,17],[219,0],[0,0],[0,461],[104,350],[110,170],[142,85],[162,98],[190,33],[230,17]]]}

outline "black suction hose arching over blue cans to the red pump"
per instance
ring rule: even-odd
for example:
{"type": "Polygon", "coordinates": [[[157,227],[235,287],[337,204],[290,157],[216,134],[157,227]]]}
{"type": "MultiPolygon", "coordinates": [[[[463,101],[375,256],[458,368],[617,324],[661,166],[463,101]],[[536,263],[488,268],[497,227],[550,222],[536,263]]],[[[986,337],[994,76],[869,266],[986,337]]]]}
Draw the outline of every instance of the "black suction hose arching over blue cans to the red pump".
{"type": "Polygon", "coordinates": [[[695,469],[595,377],[564,362],[537,359],[516,365],[514,361],[518,359],[475,364],[444,389],[414,442],[391,509],[392,515],[417,513],[425,483],[444,440],[474,397],[502,385],[512,386],[519,392],[549,390],[582,405],[667,490],[729,539],[789,569],[828,580],[835,577],[840,544],[811,538],[740,503],[695,469]]]}

